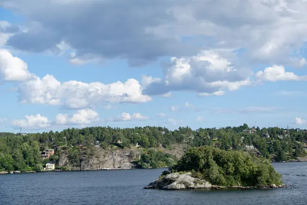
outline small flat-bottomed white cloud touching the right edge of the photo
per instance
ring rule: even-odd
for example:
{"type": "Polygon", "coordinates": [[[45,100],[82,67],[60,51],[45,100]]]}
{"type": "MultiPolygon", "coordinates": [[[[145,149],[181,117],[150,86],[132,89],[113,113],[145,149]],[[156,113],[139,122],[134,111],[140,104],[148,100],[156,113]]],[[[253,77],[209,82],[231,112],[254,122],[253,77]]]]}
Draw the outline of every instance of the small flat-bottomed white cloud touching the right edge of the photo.
{"type": "Polygon", "coordinates": [[[256,76],[264,81],[307,80],[307,76],[298,76],[293,72],[286,72],[283,66],[276,65],[268,67],[264,71],[258,71],[256,76]]]}

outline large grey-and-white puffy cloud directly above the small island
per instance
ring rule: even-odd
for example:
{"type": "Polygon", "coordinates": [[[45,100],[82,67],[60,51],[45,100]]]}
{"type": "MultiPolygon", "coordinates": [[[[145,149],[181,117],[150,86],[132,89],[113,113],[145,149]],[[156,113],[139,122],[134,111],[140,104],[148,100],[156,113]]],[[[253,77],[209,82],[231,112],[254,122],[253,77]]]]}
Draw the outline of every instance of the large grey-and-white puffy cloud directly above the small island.
{"type": "Polygon", "coordinates": [[[222,95],[224,89],[233,91],[251,85],[251,70],[234,67],[220,53],[209,50],[190,58],[171,58],[170,64],[165,66],[163,79],[147,77],[144,93],[161,95],[170,91],[193,91],[200,96],[222,95]]]}

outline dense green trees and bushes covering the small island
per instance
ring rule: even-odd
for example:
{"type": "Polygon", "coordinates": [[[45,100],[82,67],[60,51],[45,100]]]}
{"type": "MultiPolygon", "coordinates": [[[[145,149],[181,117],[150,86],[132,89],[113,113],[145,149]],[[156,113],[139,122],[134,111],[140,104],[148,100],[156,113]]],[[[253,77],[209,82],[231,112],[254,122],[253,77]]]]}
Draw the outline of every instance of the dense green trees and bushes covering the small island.
{"type": "Polygon", "coordinates": [[[195,171],[213,185],[263,187],[281,185],[269,160],[242,151],[225,151],[213,147],[189,149],[172,172],[195,171]]]}

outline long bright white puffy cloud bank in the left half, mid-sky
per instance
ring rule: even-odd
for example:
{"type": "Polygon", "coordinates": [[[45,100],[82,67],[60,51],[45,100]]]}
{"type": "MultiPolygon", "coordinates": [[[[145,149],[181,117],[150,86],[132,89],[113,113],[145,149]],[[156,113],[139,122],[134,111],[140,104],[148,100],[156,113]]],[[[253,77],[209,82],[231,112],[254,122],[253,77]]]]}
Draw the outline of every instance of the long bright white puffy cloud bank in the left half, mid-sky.
{"type": "Polygon", "coordinates": [[[141,85],[136,79],[128,79],[125,83],[87,84],[75,80],[60,82],[52,75],[43,78],[35,76],[33,80],[20,83],[17,92],[23,103],[64,105],[71,109],[82,109],[104,101],[145,103],[152,100],[142,94],[141,85]]]}

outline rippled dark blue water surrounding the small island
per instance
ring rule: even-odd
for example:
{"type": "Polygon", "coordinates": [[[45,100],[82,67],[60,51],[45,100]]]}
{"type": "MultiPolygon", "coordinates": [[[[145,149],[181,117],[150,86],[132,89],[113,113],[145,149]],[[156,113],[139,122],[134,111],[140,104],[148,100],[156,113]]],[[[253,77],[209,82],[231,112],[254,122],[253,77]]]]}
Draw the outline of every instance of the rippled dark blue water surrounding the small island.
{"type": "Polygon", "coordinates": [[[307,162],[273,163],[291,188],[143,189],[164,169],[0,175],[0,204],[307,204],[307,162]]]}

